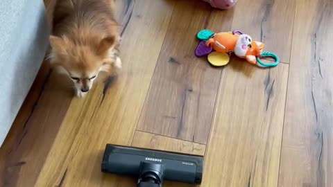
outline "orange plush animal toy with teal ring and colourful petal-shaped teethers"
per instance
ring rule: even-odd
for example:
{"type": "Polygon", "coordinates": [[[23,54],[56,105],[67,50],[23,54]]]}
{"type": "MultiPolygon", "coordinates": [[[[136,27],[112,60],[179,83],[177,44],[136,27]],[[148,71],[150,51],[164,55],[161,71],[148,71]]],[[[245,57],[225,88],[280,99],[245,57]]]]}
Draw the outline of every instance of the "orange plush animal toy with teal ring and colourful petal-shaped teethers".
{"type": "Polygon", "coordinates": [[[234,53],[237,57],[246,59],[250,64],[258,66],[276,66],[279,63],[278,56],[273,53],[263,53],[264,44],[253,41],[252,37],[236,30],[228,33],[214,33],[212,30],[201,30],[198,39],[202,40],[196,48],[196,56],[208,55],[208,61],[214,66],[228,64],[229,58],[218,53],[234,53]],[[214,52],[213,52],[214,51],[214,52]],[[212,55],[212,57],[211,57],[212,55]],[[260,57],[274,57],[275,63],[264,63],[260,57]],[[212,62],[214,61],[214,62],[212,62]]]}

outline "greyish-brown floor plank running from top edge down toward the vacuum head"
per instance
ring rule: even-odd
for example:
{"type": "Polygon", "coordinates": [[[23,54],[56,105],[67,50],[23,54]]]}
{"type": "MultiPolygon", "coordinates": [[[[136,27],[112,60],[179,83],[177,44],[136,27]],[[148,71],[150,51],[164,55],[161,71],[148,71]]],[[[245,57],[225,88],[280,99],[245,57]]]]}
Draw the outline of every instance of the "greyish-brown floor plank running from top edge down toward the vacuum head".
{"type": "Polygon", "coordinates": [[[194,55],[196,33],[207,26],[229,30],[230,14],[177,1],[137,130],[207,143],[221,69],[194,55]]]}

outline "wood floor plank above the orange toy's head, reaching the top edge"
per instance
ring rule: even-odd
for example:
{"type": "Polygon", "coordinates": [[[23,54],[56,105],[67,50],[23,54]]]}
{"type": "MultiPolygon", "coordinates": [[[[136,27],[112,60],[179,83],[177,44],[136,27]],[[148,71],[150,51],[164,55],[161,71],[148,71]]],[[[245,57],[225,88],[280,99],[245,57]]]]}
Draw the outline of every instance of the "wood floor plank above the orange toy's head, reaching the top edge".
{"type": "Polygon", "coordinates": [[[238,1],[232,30],[264,42],[264,51],[276,53],[282,62],[289,63],[295,7],[294,0],[238,1]]]}

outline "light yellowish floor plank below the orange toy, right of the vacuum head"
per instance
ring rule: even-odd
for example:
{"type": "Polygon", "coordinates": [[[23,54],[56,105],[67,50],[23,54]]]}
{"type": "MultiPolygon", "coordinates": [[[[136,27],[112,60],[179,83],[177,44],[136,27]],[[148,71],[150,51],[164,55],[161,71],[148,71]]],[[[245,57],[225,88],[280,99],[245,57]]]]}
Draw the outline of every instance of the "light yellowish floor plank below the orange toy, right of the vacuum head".
{"type": "Polygon", "coordinates": [[[277,186],[288,64],[230,63],[222,73],[203,186],[277,186]]]}

